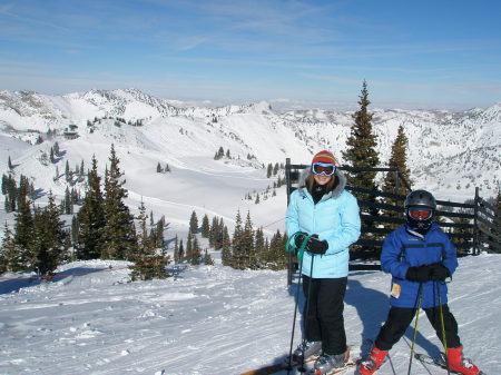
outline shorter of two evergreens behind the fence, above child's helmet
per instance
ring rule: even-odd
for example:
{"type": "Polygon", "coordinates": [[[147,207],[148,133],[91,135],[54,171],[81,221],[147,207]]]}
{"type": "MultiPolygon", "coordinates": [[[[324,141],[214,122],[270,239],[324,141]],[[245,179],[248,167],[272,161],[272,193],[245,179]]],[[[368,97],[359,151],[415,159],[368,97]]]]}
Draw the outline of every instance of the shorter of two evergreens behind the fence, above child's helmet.
{"type": "MultiPolygon", "coordinates": [[[[383,181],[383,191],[395,194],[395,195],[406,195],[406,188],[402,179],[405,179],[409,184],[411,184],[411,171],[407,168],[407,137],[405,136],[403,126],[401,125],[397,130],[396,138],[392,146],[392,152],[390,156],[389,167],[399,169],[399,185],[396,180],[396,172],[390,171],[386,174],[383,181]]],[[[397,199],[384,198],[384,203],[386,205],[399,206],[397,199]]],[[[385,210],[385,215],[392,218],[401,218],[402,211],[395,210],[385,210]]],[[[395,229],[400,226],[397,223],[386,224],[386,226],[391,229],[395,229]]]]}

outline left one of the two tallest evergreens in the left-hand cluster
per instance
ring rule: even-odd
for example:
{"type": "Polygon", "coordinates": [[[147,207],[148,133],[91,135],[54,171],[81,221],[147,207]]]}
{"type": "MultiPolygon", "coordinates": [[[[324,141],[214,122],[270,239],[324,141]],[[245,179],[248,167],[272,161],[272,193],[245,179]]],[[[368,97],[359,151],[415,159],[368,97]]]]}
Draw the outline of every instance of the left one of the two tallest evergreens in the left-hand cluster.
{"type": "Polygon", "coordinates": [[[87,174],[87,191],[84,205],[78,213],[78,259],[97,259],[104,248],[105,201],[101,194],[101,178],[97,170],[97,160],[92,156],[92,169],[87,174]]]}

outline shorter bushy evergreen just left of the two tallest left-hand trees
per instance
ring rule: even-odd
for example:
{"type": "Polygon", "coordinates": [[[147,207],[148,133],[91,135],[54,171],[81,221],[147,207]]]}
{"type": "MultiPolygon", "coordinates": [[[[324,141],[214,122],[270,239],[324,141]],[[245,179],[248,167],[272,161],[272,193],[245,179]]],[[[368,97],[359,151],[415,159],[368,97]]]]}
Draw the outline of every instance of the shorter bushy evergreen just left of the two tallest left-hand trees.
{"type": "Polygon", "coordinates": [[[67,249],[65,221],[59,218],[52,191],[47,207],[36,210],[33,224],[33,266],[40,275],[51,275],[66,260],[67,249]]]}

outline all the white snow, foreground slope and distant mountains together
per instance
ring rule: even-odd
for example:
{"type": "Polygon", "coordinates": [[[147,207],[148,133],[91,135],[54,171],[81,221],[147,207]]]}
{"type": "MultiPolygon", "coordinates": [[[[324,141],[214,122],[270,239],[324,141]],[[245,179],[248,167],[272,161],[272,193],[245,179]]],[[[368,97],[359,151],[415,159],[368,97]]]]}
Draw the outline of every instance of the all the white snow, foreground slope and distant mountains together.
{"type": "MultiPolygon", "coordinates": [[[[399,125],[405,124],[414,187],[428,187],[443,200],[472,198],[473,184],[499,184],[499,107],[471,114],[471,119],[462,114],[455,130],[449,119],[455,115],[450,112],[377,110],[380,151],[387,157],[399,125]],[[470,128],[472,136],[463,147],[464,129],[470,128]],[[456,181],[466,178],[471,191],[456,188],[456,181]]],[[[237,210],[243,217],[249,211],[254,227],[263,227],[268,237],[277,229],[283,233],[285,187],[264,199],[277,178],[266,178],[266,164],[286,157],[305,164],[323,148],[341,159],[351,121],[350,112],[276,115],[266,102],[175,108],[132,89],[63,97],[0,91],[0,170],[8,171],[11,157],[14,178],[30,177],[42,191],[35,205],[43,205],[49,190],[58,200],[63,197],[67,161],[73,169],[84,160],[88,169],[95,155],[104,176],[114,144],[129,193],[127,205],[137,214],[143,200],[155,220],[165,216],[171,251],[175,236],[186,239],[194,210],[199,223],[205,214],[209,220],[222,217],[229,234],[237,210]],[[116,127],[115,119],[107,119],[90,132],[87,120],[107,115],[146,119],[145,126],[116,127]],[[212,122],[214,117],[217,122],[212,122]],[[41,145],[23,141],[33,142],[38,131],[60,131],[69,124],[78,125],[78,139],[58,135],[41,145]],[[56,141],[58,160],[42,164],[40,156],[56,141]],[[230,150],[232,158],[214,160],[219,147],[230,150]],[[256,159],[248,160],[249,154],[256,159]],[[163,168],[168,164],[171,172],[157,174],[158,162],[163,168]],[[254,203],[257,193],[259,204],[254,203]],[[252,200],[245,199],[248,194],[252,200]]],[[[84,194],[85,184],[70,187],[84,194]]],[[[1,195],[0,221],[12,228],[14,213],[1,209],[3,199],[1,195]]],[[[69,225],[71,217],[63,218],[69,225]]],[[[207,240],[199,239],[205,248],[207,240]]],[[[285,272],[234,270],[220,266],[217,251],[212,256],[214,267],[176,268],[175,277],[141,283],[129,283],[121,261],[62,265],[52,283],[17,279],[30,274],[2,275],[12,279],[0,280],[0,374],[233,375],[281,361],[289,347],[296,284],[287,287],[285,272]]],[[[501,323],[500,266],[500,256],[463,258],[450,288],[466,355],[490,375],[501,368],[500,334],[494,329],[501,323]]],[[[385,318],[389,284],[383,273],[350,275],[345,320],[354,356],[385,318]]],[[[420,322],[418,351],[436,354],[439,341],[426,319],[420,322]]],[[[410,337],[407,333],[394,347],[391,366],[381,375],[406,373],[410,337]]],[[[414,364],[412,374],[444,372],[414,364]]]]}

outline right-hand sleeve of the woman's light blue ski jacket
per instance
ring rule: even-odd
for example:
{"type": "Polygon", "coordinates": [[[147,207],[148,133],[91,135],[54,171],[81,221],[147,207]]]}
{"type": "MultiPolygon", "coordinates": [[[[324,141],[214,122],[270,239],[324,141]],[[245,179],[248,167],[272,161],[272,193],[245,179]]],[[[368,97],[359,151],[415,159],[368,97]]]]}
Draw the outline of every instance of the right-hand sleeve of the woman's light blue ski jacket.
{"type": "Polygon", "coordinates": [[[361,219],[356,198],[350,195],[341,214],[341,230],[326,238],[328,249],[326,254],[347,251],[348,246],[356,243],[360,237],[361,219]]]}

